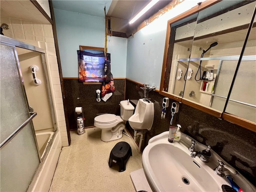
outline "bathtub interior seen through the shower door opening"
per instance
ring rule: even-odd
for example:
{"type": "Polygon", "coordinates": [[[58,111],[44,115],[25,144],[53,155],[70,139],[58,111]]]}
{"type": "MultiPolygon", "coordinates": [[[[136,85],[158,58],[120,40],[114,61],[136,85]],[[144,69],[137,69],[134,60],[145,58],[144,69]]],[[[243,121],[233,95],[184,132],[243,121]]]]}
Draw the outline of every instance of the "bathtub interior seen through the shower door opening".
{"type": "Polygon", "coordinates": [[[36,140],[38,143],[40,157],[44,156],[44,152],[46,151],[46,147],[52,139],[54,132],[36,132],[36,140]]]}

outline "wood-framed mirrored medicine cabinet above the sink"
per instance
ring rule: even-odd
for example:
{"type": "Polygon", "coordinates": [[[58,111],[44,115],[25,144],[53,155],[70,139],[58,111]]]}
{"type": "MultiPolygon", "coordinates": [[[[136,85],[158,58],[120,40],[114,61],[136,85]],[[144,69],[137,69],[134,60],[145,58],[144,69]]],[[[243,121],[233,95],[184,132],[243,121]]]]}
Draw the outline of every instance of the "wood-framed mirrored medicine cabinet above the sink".
{"type": "Polygon", "coordinates": [[[255,8],[208,0],[169,20],[160,94],[256,132],[255,8]]]}

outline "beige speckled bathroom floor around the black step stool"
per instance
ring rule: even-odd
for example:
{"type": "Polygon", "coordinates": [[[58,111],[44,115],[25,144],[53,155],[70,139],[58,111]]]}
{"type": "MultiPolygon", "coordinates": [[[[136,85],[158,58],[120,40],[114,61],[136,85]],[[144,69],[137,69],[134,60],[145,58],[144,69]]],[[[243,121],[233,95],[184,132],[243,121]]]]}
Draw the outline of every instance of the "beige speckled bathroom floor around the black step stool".
{"type": "Polygon", "coordinates": [[[138,146],[124,134],[111,142],[101,141],[100,134],[99,128],[88,128],[82,135],[70,132],[71,145],[62,148],[50,192],[135,192],[130,172],[142,168],[138,146]],[[118,172],[118,166],[108,166],[110,152],[120,141],[132,148],[124,172],[118,172]]]}

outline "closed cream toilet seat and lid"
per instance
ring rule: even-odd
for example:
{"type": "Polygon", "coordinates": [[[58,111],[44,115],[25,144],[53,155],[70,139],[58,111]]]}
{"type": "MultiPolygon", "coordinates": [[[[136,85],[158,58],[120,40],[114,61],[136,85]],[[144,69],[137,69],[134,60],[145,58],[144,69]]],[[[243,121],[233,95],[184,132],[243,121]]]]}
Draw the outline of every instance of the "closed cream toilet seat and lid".
{"type": "Polygon", "coordinates": [[[94,118],[94,126],[104,129],[113,128],[118,123],[124,122],[120,116],[114,114],[103,114],[94,118]]]}

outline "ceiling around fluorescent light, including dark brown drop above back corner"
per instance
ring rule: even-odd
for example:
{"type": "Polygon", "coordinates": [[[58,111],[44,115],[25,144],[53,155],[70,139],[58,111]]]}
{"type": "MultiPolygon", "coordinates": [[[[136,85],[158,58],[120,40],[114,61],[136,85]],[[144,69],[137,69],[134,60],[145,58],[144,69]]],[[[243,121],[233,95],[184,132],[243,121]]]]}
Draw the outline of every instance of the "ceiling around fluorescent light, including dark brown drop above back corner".
{"type": "MultiPolygon", "coordinates": [[[[110,16],[110,27],[113,36],[129,36],[137,27],[150,16],[172,2],[171,0],[160,0],[136,22],[129,25],[128,22],[140,12],[150,0],[52,0],[55,9],[79,12],[92,16],[105,18],[110,16]],[[114,34],[114,32],[117,32],[114,34]],[[124,35],[126,34],[126,35],[124,35]]],[[[161,13],[162,14],[162,13],[161,13]]]]}

